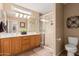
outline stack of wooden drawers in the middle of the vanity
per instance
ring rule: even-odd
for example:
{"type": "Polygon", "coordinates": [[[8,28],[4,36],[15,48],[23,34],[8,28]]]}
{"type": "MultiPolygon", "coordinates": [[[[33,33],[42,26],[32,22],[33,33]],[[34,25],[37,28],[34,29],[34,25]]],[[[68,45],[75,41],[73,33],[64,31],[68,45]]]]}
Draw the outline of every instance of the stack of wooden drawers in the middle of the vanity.
{"type": "Polygon", "coordinates": [[[27,37],[22,37],[22,51],[26,51],[26,50],[29,50],[30,49],[30,38],[27,36],[27,37]]]}

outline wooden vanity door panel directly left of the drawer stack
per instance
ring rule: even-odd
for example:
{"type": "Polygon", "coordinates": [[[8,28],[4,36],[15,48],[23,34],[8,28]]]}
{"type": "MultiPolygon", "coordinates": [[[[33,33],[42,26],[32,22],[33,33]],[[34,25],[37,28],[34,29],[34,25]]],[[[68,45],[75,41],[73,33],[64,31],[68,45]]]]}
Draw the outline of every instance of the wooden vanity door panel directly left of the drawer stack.
{"type": "Polygon", "coordinates": [[[11,53],[12,55],[18,54],[21,52],[21,38],[11,39],[11,53]]]}

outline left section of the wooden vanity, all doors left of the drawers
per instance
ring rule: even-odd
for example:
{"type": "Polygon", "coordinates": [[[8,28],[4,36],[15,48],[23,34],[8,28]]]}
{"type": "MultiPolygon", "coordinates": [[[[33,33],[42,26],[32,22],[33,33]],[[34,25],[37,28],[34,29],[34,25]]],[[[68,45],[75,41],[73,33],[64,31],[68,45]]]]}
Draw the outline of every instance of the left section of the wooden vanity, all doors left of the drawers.
{"type": "Polygon", "coordinates": [[[16,55],[21,52],[21,38],[1,39],[1,55],[16,55]]]}

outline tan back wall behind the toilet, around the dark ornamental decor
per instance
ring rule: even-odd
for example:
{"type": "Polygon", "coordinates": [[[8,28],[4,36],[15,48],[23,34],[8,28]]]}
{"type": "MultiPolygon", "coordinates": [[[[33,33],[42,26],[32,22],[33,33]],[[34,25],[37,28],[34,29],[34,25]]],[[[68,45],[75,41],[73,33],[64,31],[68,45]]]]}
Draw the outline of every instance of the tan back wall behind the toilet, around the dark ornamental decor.
{"type": "Polygon", "coordinates": [[[65,43],[67,43],[68,36],[79,37],[79,28],[77,29],[68,29],[66,26],[66,20],[70,16],[79,16],[79,4],[72,3],[64,6],[64,38],[65,43]]]}

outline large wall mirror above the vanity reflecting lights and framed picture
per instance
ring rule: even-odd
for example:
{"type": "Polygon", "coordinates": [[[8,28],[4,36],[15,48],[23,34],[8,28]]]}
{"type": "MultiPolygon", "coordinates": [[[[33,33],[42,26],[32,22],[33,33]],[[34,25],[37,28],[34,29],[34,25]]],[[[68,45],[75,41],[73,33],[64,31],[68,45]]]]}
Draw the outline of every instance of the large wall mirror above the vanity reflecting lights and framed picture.
{"type": "Polygon", "coordinates": [[[1,32],[39,32],[39,13],[16,4],[3,4],[0,11],[1,32]]]}

